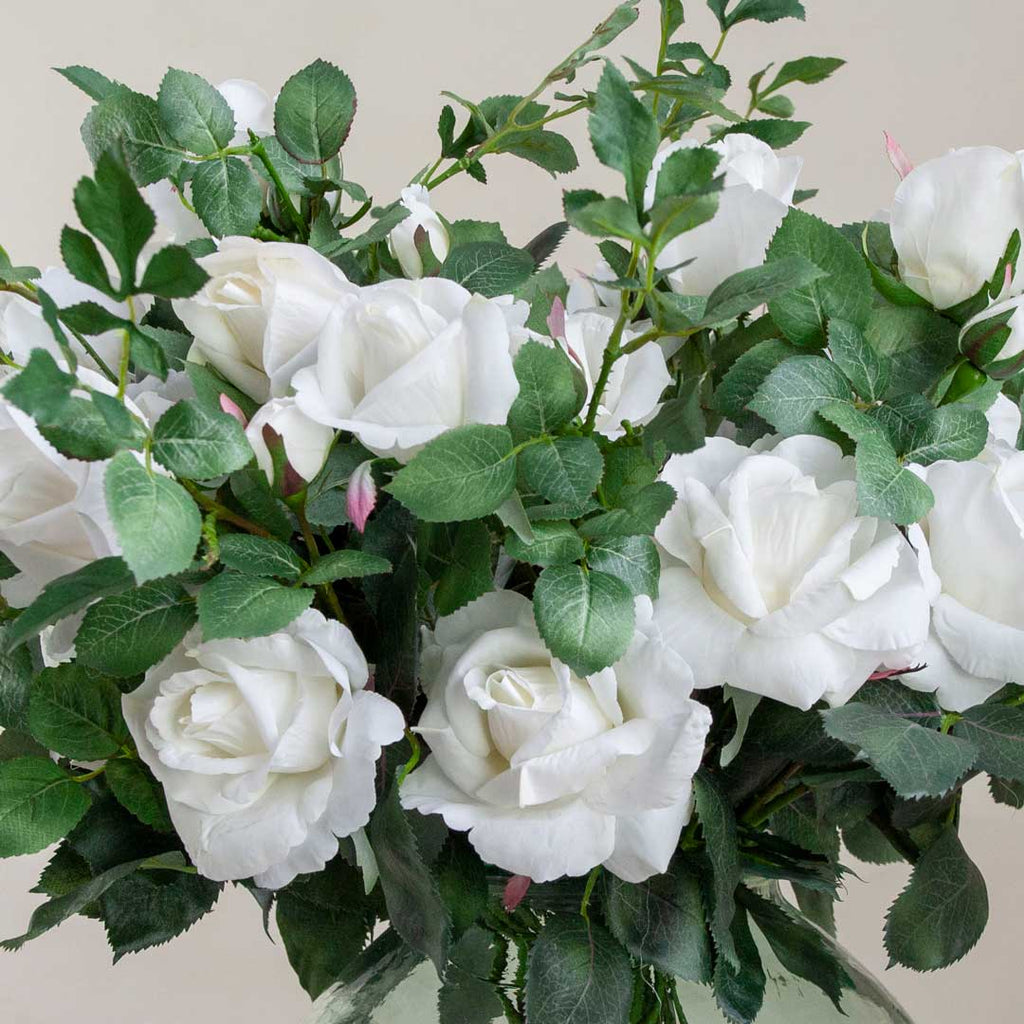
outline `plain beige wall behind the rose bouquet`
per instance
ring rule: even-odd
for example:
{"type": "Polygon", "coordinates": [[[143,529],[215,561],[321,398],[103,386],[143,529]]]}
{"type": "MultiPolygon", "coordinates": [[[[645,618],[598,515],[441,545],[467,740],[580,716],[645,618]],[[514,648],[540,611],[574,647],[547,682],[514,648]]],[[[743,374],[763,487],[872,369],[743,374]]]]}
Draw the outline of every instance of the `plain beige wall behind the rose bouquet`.
{"type": "MultiPolygon", "coordinates": [[[[815,124],[798,145],[806,158],[802,184],[822,188],[811,209],[841,221],[888,204],[895,178],[881,147],[884,128],[916,160],[954,144],[1024,145],[1020,0],[806,3],[806,24],[740,26],[724,59],[740,91],[749,75],[770,59],[806,54],[849,59],[829,82],[787,90],[798,117],[815,124]]],[[[52,66],[92,65],[151,93],[168,65],[214,82],[252,78],[272,92],[308,60],[327,57],[345,68],[359,91],[346,176],[386,202],[436,153],[433,126],[441,89],[473,98],[522,91],[611,5],[612,0],[16,5],[6,0],[0,29],[0,244],[15,262],[45,265],[55,258],[60,226],[73,220],[72,187],[87,170],[77,132],[88,100],[50,72],[52,66]]],[[[655,45],[649,15],[656,2],[644,0],[643,6],[647,24],[623,47],[649,62],[655,45]]],[[[703,3],[687,0],[686,6],[689,38],[711,48],[717,32],[703,3]]],[[[572,134],[584,143],[582,123],[572,134]]],[[[543,172],[512,158],[499,158],[488,170],[487,188],[465,178],[443,185],[439,208],[450,217],[500,218],[513,241],[525,241],[557,219],[559,187],[543,172]]],[[[605,180],[586,158],[584,173],[575,177],[597,187],[605,180]]],[[[566,269],[593,262],[582,239],[570,240],[562,256],[566,269]]],[[[990,803],[983,785],[972,786],[964,836],[988,880],[991,921],[979,947],[949,971],[886,974],[918,1024],[1012,1024],[1024,1017],[1015,994],[1024,939],[1022,826],[1013,812],[990,803]]],[[[44,862],[41,855],[0,865],[0,936],[22,931],[38,899],[27,892],[44,862]]],[[[842,934],[881,972],[885,908],[906,870],[853,866],[867,884],[850,879],[842,934]]],[[[129,956],[115,969],[100,927],[75,920],[20,953],[0,953],[0,1020],[10,1024],[293,1024],[307,1005],[280,946],[263,936],[255,904],[239,891],[225,893],[217,910],[186,936],[159,951],[129,956]]]]}

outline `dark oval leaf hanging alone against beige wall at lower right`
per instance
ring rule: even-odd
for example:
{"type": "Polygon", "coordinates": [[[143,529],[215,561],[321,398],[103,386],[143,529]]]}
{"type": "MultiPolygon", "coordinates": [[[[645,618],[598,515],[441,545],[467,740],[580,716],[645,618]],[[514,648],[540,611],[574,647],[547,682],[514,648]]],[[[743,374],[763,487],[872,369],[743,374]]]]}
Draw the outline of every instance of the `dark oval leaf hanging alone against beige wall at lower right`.
{"type": "Polygon", "coordinates": [[[947,825],[922,854],[889,909],[885,937],[890,966],[936,971],[955,964],[974,948],[987,923],[985,880],[947,825]]]}

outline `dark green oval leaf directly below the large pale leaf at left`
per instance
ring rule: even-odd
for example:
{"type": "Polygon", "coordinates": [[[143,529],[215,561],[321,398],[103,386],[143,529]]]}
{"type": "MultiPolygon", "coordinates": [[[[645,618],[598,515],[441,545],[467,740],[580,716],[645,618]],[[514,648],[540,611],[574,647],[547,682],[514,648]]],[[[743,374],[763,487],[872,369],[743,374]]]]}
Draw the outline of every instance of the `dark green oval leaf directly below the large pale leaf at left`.
{"type": "Polygon", "coordinates": [[[163,660],[196,622],[196,602],[173,580],[155,580],[97,601],[75,638],[82,665],[127,678],[163,660]]]}

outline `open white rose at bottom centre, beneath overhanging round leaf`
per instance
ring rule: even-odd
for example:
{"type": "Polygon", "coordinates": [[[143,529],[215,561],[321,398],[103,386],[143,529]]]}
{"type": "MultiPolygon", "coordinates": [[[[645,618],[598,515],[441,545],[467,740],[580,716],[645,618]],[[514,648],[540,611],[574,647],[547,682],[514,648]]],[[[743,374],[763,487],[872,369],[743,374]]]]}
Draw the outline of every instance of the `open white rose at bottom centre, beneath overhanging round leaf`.
{"type": "Polygon", "coordinates": [[[537,882],[597,864],[630,882],[666,870],[711,714],[656,634],[638,629],[621,662],[580,678],[544,646],[530,602],[496,591],[438,622],[423,676],[431,753],[402,806],[537,882]]]}

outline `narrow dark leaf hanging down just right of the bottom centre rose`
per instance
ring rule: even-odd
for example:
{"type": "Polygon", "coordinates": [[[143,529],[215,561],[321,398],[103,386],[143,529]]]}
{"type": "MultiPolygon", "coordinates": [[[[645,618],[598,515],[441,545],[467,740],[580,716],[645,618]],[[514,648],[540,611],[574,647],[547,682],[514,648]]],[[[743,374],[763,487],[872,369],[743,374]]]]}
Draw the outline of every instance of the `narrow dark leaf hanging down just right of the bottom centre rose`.
{"type": "Polygon", "coordinates": [[[740,959],[731,931],[739,885],[736,818],[721,785],[707,769],[694,776],[693,794],[712,868],[711,934],[719,956],[738,969],[740,959]]]}

